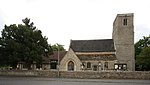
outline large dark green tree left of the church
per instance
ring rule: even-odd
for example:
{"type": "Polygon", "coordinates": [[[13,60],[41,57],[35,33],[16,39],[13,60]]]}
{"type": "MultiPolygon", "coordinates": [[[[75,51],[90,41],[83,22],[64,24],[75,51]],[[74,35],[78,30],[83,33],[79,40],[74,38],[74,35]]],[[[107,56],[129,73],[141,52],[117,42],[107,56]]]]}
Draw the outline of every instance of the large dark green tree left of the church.
{"type": "Polygon", "coordinates": [[[42,57],[52,53],[47,38],[42,36],[30,19],[22,20],[24,24],[5,25],[0,38],[1,65],[16,67],[18,62],[24,62],[30,68],[33,62],[42,63],[42,57]]]}

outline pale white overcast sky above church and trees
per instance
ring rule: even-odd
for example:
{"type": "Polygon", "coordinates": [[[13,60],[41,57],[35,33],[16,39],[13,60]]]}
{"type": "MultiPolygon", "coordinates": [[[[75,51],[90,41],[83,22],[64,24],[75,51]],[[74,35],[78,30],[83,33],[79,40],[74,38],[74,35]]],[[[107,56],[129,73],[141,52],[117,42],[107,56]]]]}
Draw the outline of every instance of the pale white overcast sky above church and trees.
{"type": "Polygon", "coordinates": [[[48,38],[64,45],[70,40],[111,39],[117,14],[134,13],[135,42],[150,34],[150,0],[0,0],[0,31],[28,17],[48,38]]]}

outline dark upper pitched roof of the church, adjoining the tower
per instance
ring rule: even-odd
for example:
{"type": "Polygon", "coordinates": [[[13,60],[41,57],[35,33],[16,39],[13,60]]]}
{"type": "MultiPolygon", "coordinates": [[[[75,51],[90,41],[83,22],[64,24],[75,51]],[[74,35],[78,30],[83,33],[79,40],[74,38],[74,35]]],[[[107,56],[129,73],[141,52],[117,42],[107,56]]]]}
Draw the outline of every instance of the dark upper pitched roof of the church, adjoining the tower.
{"type": "Polygon", "coordinates": [[[70,48],[74,52],[114,52],[113,39],[71,40],[70,48]]]}

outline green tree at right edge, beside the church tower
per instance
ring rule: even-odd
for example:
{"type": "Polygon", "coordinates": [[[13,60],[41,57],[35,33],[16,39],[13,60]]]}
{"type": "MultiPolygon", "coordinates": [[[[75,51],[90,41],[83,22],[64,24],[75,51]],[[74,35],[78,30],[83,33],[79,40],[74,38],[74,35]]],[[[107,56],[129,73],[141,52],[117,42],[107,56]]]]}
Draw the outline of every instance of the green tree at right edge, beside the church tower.
{"type": "Polygon", "coordinates": [[[150,70],[150,35],[135,44],[136,70],[150,70]]]}

